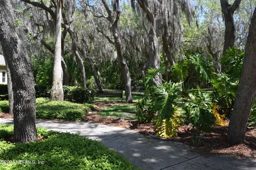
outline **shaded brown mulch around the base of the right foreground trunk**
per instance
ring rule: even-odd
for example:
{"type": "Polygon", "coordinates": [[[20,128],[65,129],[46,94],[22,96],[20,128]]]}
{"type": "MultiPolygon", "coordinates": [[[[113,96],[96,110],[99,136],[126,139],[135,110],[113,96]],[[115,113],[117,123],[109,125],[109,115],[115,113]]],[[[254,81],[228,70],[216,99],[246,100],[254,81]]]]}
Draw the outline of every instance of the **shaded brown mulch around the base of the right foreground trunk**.
{"type": "Polygon", "coordinates": [[[199,133],[191,126],[179,128],[178,137],[168,140],[180,141],[203,154],[226,154],[235,157],[256,158],[256,128],[247,129],[244,143],[230,146],[227,141],[228,127],[215,126],[211,132],[199,133]]]}

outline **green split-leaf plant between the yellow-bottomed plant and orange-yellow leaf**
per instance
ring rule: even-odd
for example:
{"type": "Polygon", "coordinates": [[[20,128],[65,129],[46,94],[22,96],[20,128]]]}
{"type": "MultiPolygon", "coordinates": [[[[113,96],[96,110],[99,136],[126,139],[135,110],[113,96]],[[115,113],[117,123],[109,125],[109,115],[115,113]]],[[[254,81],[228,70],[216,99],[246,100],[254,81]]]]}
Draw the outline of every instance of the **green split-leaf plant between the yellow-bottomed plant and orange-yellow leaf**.
{"type": "Polygon", "coordinates": [[[212,112],[212,99],[208,92],[194,92],[185,100],[184,109],[189,115],[189,123],[204,132],[209,132],[214,125],[215,118],[212,112]]]}

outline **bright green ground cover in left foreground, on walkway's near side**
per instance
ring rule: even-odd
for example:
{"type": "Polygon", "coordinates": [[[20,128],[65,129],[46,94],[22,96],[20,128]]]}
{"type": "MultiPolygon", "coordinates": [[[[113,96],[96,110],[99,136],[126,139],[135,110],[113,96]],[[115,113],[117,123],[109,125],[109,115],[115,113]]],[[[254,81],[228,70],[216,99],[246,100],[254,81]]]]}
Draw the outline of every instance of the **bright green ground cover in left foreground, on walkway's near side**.
{"type": "Polygon", "coordinates": [[[5,139],[13,135],[13,125],[0,124],[0,169],[137,169],[99,141],[41,128],[37,131],[42,140],[10,143],[5,139]]]}

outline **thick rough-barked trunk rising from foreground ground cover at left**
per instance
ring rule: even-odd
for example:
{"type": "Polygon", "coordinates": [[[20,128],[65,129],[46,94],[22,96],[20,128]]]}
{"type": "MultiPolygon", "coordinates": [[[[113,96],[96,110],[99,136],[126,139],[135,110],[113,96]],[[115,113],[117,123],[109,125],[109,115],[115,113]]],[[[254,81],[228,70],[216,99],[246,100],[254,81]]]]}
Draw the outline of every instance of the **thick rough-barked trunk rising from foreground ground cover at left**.
{"type": "Polygon", "coordinates": [[[1,0],[0,42],[12,78],[14,141],[30,142],[37,138],[35,82],[13,16],[10,1],[1,0]]]}

